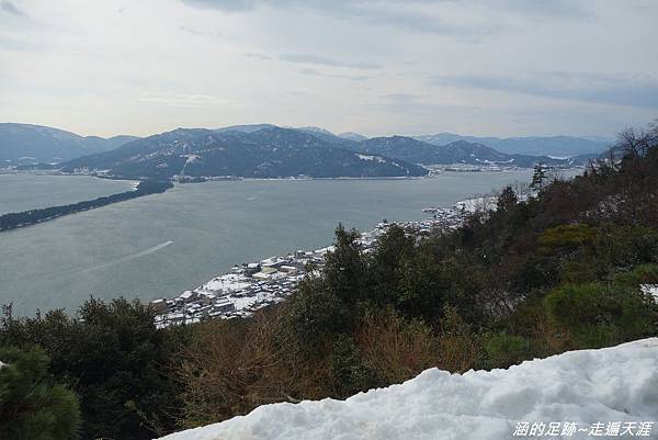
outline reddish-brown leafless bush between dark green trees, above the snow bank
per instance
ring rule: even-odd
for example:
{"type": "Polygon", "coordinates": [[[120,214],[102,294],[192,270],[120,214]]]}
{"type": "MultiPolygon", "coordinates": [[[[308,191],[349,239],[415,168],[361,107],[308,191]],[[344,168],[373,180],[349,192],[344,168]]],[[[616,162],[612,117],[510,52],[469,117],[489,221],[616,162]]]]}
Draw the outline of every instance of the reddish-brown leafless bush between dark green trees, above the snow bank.
{"type": "Polygon", "coordinates": [[[183,386],[183,427],[245,415],[259,405],[297,402],[295,396],[327,396],[328,386],[321,386],[329,382],[325,365],[294,363],[279,349],[279,318],[274,311],[197,326],[177,370],[183,386]]]}

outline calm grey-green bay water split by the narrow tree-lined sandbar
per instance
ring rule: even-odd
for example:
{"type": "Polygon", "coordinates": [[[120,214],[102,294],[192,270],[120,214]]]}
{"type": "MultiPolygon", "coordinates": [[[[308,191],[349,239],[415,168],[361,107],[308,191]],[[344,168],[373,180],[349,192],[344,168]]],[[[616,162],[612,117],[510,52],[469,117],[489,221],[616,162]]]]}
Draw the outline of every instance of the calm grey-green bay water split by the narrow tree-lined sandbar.
{"type": "MultiPolygon", "coordinates": [[[[37,308],[72,312],[89,295],[173,296],[236,263],[327,246],[339,222],[368,229],[383,218],[421,219],[427,216],[423,207],[451,206],[514,181],[529,181],[531,174],[445,173],[416,180],[243,180],[177,185],[163,194],[0,234],[0,304],[11,302],[15,313],[24,315],[37,308]]],[[[30,189],[33,176],[0,178],[0,206],[8,200],[36,206],[52,200],[53,187],[43,192],[30,189]],[[7,188],[18,193],[8,194],[7,188]]],[[[73,200],[68,202],[89,199],[89,187],[81,182],[64,184],[72,185],[67,194],[73,200]]],[[[99,182],[100,187],[110,184],[104,188],[109,193],[117,192],[117,182],[95,180],[99,182]]],[[[123,184],[129,187],[128,182],[123,184]]]]}

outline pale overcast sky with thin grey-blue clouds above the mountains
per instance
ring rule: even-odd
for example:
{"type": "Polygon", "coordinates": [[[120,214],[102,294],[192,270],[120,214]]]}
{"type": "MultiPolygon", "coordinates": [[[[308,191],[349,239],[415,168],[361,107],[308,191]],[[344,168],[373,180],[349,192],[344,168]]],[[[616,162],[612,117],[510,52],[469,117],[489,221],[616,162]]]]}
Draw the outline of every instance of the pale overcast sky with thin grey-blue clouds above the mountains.
{"type": "Polygon", "coordinates": [[[658,117],[655,0],[0,0],[0,122],[612,137],[658,117]]]}

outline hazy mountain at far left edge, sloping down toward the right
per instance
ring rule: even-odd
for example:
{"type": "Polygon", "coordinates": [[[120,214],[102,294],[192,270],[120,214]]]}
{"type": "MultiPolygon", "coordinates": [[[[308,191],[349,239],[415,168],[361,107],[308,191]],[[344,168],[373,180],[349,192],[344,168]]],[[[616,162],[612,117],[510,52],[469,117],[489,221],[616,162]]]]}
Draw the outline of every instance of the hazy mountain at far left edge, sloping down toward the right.
{"type": "Polygon", "coordinates": [[[134,136],[83,137],[41,125],[0,123],[0,167],[60,162],[107,151],[135,139],[134,136]]]}

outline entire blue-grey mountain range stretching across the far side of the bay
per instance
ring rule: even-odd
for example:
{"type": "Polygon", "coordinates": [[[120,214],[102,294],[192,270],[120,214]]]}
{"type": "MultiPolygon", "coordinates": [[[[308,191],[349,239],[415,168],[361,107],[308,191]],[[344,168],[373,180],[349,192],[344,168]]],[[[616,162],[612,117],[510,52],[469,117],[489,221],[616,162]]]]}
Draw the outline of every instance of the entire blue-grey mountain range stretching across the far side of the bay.
{"type": "Polygon", "coordinates": [[[568,136],[501,139],[444,133],[366,138],[356,133],[334,135],[319,127],[272,124],[178,128],[146,138],[104,139],[36,125],[0,124],[0,158],[8,165],[59,162],[56,167],[64,171],[100,171],[131,179],[405,177],[426,174],[427,169],[419,165],[453,163],[569,167],[587,163],[604,145],[568,136]],[[570,157],[559,158],[564,156],[570,157]]]}

